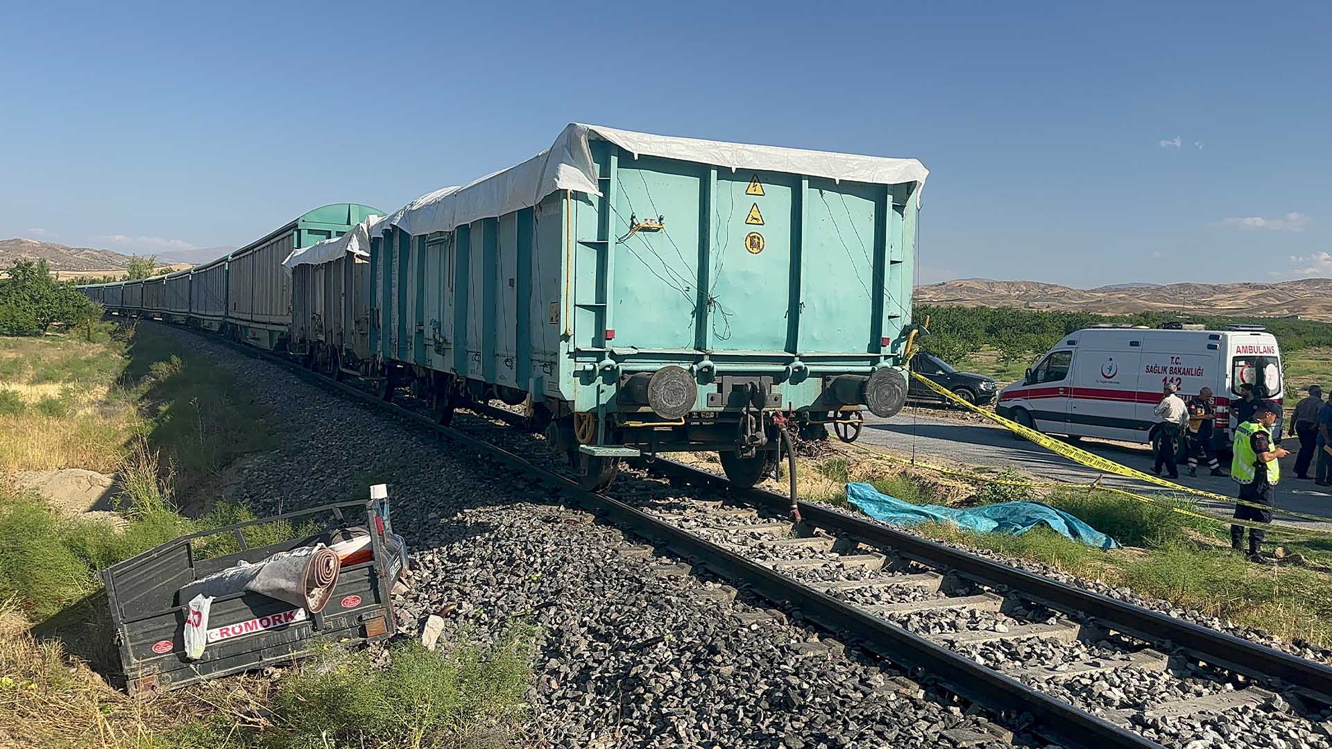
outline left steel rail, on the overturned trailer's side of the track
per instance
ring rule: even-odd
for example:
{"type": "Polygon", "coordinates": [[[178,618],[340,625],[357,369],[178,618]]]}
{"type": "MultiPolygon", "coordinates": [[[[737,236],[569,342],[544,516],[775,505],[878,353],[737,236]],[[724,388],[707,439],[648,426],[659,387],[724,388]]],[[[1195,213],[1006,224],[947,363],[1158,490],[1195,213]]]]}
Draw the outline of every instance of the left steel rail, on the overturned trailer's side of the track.
{"type": "MultiPolygon", "coordinates": [[[[775,604],[795,606],[805,618],[817,622],[830,632],[850,634],[867,650],[895,665],[910,669],[918,680],[934,681],[944,690],[1007,718],[1022,721],[1023,717],[1030,716],[1030,729],[1034,733],[1062,746],[1070,749],[1163,749],[1159,744],[1148,741],[1131,730],[1099,718],[1063,700],[1038,692],[1012,677],[982,666],[948,648],[911,633],[887,620],[815,590],[809,585],[759,565],[742,554],[718,546],[711,541],[669,525],[626,502],[582,489],[575,481],[541,468],[501,446],[473,437],[453,426],[436,424],[421,413],[396,402],[384,401],[348,382],[334,381],[318,372],[305,369],[273,352],[224,339],[214,340],[225,343],[230,348],[256,359],[285,367],[297,373],[302,380],[384,406],[385,410],[405,421],[418,424],[481,454],[489,454],[493,460],[518,469],[538,482],[550,485],[565,493],[591,513],[645,540],[657,541],[657,545],[665,545],[683,557],[693,558],[697,564],[738,586],[749,588],[775,604]]],[[[707,477],[725,482],[725,478],[715,474],[701,473],[699,478],[707,477]]],[[[779,494],[771,496],[781,497],[779,494]]],[[[789,502],[786,497],[781,497],[781,501],[789,502]]],[[[810,505],[810,509],[821,508],[810,505]]]]}

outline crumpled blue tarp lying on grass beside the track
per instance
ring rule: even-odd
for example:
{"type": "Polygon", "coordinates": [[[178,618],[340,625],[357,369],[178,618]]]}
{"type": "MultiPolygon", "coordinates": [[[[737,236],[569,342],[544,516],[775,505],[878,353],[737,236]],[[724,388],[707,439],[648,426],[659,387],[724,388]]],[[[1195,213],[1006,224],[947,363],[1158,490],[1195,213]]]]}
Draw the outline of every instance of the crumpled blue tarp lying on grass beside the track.
{"type": "Polygon", "coordinates": [[[1046,525],[1074,541],[1102,549],[1119,548],[1119,544],[1110,536],[1067,512],[1040,502],[999,502],[967,509],[914,505],[883,494],[868,484],[847,484],[846,501],[864,514],[894,525],[910,526],[930,521],[948,521],[968,530],[1012,533],[1014,536],[1020,536],[1038,525],[1046,525]]]}

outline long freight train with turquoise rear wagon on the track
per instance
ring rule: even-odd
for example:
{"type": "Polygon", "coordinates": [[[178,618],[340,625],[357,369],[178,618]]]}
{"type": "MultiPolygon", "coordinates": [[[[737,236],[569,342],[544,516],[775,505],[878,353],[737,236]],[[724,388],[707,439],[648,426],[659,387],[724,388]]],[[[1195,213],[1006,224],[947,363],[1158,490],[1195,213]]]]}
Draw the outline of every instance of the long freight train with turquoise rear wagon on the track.
{"type": "Polygon", "coordinates": [[[790,433],[859,433],[907,394],[927,176],[884,159],[570,124],[385,215],[317,208],[225,257],[83,287],[409,390],[441,422],[498,398],[601,489],[621,458],[715,450],[733,484],[790,433]]]}

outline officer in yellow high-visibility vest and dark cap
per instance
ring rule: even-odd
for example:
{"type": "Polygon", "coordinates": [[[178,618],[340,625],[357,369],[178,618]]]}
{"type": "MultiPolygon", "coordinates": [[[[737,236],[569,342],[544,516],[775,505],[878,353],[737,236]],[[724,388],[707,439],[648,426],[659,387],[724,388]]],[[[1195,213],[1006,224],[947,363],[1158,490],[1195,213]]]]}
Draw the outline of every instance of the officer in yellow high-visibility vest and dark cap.
{"type": "MultiPolygon", "coordinates": [[[[1260,404],[1253,409],[1251,421],[1235,428],[1235,457],[1231,460],[1231,477],[1240,485],[1240,500],[1248,504],[1235,505],[1235,520],[1272,522],[1272,488],[1281,480],[1280,458],[1291,454],[1273,444],[1272,425],[1276,424],[1276,409],[1260,404]]],[[[1263,561],[1259,546],[1267,533],[1261,528],[1249,528],[1249,558],[1263,561]]],[[[1243,553],[1244,526],[1231,525],[1231,548],[1243,553]]]]}

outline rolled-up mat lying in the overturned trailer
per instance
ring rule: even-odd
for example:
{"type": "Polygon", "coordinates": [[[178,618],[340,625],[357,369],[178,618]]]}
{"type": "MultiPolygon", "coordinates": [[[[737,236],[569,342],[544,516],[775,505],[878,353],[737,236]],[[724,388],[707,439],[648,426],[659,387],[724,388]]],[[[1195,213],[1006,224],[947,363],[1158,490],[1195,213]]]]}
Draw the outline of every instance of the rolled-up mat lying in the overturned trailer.
{"type": "Polygon", "coordinates": [[[196,580],[181,588],[180,600],[188,601],[198,593],[216,597],[252,590],[318,613],[333,596],[340,569],[337,553],[324,544],[297,546],[258,564],[242,561],[196,580]]]}

